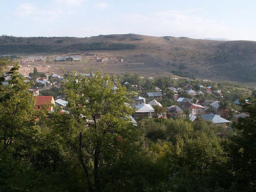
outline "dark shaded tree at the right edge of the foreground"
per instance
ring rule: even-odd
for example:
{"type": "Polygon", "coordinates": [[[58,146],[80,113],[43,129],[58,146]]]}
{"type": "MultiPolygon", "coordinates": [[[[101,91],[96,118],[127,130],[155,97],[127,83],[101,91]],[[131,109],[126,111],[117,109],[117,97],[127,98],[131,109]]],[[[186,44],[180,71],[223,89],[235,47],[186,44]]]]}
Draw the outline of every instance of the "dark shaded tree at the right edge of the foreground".
{"type": "Polygon", "coordinates": [[[256,190],[256,99],[240,99],[244,112],[250,116],[240,118],[236,125],[237,135],[231,139],[227,151],[231,168],[240,191],[256,190]]]}

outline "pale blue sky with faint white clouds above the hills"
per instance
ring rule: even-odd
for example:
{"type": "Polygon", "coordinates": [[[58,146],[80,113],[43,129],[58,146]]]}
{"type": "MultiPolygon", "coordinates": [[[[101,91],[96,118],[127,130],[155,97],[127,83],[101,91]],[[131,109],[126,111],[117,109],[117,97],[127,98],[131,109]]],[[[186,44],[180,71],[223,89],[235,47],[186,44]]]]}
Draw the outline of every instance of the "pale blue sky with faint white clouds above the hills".
{"type": "Polygon", "coordinates": [[[0,35],[151,36],[256,41],[255,0],[0,0],[0,35]]]}

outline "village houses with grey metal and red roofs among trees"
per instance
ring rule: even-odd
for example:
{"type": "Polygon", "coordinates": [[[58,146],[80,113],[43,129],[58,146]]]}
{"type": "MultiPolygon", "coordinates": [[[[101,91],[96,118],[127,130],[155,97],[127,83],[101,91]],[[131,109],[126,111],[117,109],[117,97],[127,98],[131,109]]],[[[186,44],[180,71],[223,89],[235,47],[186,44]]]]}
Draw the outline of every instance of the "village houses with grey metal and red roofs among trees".
{"type": "MultiPolygon", "coordinates": [[[[76,59],[78,57],[69,56],[68,58],[76,59]]],[[[36,59],[43,59],[43,57],[36,59]]],[[[56,57],[56,59],[67,59],[67,57],[56,57]]],[[[91,74],[82,75],[91,76],[91,74]]],[[[132,82],[125,81],[125,76],[119,77],[127,91],[135,93],[136,97],[131,98],[132,102],[129,103],[134,108],[131,120],[135,125],[137,124],[136,121],[141,118],[188,118],[192,122],[203,118],[205,121],[211,121],[216,126],[230,129],[232,122],[237,122],[239,117],[248,116],[248,114],[234,110],[223,103],[221,100],[224,99],[225,95],[230,95],[230,91],[222,92],[216,86],[216,83],[214,83],[214,86],[211,86],[212,82],[210,80],[195,81],[169,77],[165,78],[167,82],[165,82],[164,86],[162,84],[162,86],[155,87],[154,85],[157,84],[157,81],[162,80],[162,78],[155,79],[151,76],[146,78],[138,74],[131,76],[130,81],[134,82],[134,79],[139,79],[139,81],[137,80],[139,83],[132,84],[132,82]],[[148,87],[148,84],[151,84],[151,87],[148,87]]],[[[33,73],[29,73],[29,75],[24,74],[24,77],[26,81],[34,82],[34,86],[31,86],[28,91],[36,97],[35,110],[40,110],[47,106],[48,103],[51,103],[52,105],[59,106],[63,113],[68,113],[66,96],[58,91],[61,90],[65,77],[57,74],[46,75],[42,72],[37,72],[36,67],[34,67],[33,73]],[[49,92],[49,90],[53,89],[55,90],[54,96],[51,95],[52,92],[49,92]]],[[[6,74],[5,81],[2,84],[8,84],[10,78],[11,76],[6,74]]],[[[117,79],[116,84],[118,84],[117,79]]],[[[113,91],[116,89],[118,88],[114,86],[113,91]]],[[[233,100],[232,105],[241,109],[238,99],[233,100]]],[[[48,110],[53,110],[53,108],[50,107],[48,110]]]]}

